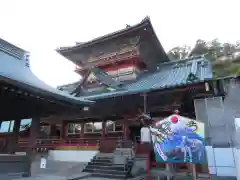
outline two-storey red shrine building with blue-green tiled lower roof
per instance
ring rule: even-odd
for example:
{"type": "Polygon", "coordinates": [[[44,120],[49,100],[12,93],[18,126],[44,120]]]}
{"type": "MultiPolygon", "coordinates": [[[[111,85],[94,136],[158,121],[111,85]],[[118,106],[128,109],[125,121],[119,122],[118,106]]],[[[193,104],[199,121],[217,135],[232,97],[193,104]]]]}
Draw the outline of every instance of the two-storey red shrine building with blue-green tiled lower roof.
{"type": "MultiPolygon", "coordinates": [[[[136,25],[56,51],[73,62],[75,72],[82,77],[75,83],[59,86],[58,90],[41,84],[38,91],[40,85],[31,84],[36,92],[46,87],[51,95],[57,93],[61,102],[66,98],[71,99],[68,102],[81,102],[71,110],[61,107],[41,115],[33,149],[48,153],[57,161],[91,162],[98,154],[128,148],[135,157],[154,162],[151,143],[141,142],[141,129],[146,126],[141,116],[161,120],[178,110],[181,116],[207,125],[204,113],[199,113],[207,108],[200,107],[199,102],[224,96],[225,82],[229,80],[214,80],[211,62],[204,56],[170,61],[148,17],[136,25]]],[[[32,116],[21,118],[26,123],[19,132],[18,150],[25,151],[33,120],[32,116]]],[[[207,127],[205,131],[208,146],[210,130],[207,127]]],[[[176,167],[184,168],[188,166],[176,167]]],[[[208,171],[206,166],[197,168],[199,172],[208,171]]],[[[93,172],[88,167],[85,170],[93,172]]],[[[104,176],[100,171],[95,173],[104,176]]]]}

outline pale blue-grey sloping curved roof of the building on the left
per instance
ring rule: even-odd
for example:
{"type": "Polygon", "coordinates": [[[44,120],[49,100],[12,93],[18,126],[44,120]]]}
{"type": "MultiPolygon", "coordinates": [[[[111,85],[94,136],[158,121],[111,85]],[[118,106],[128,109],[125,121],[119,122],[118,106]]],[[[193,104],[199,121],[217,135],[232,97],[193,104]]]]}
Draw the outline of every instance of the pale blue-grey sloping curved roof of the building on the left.
{"type": "Polygon", "coordinates": [[[72,101],[75,104],[89,104],[92,101],[69,95],[64,91],[57,90],[32,73],[29,67],[25,66],[24,60],[19,60],[11,54],[0,50],[0,80],[8,83],[18,84],[26,89],[31,89],[41,94],[52,96],[62,101],[72,101]]]}

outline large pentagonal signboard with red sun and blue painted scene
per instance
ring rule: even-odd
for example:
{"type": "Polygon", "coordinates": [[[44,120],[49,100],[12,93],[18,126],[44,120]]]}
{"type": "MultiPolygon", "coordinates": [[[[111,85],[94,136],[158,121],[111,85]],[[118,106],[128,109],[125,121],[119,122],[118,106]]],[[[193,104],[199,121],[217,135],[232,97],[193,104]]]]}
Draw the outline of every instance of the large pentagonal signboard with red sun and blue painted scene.
{"type": "Polygon", "coordinates": [[[150,126],[157,162],[204,163],[204,124],[171,115],[150,126]]]}

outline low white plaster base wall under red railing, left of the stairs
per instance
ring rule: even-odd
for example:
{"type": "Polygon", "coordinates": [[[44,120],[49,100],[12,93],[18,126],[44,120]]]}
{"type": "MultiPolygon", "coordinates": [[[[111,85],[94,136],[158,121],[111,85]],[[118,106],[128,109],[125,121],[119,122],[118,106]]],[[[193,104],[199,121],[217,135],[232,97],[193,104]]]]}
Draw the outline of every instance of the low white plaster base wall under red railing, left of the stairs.
{"type": "Polygon", "coordinates": [[[98,151],[51,150],[48,159],[53,161],[89,162],[98,151]]]}

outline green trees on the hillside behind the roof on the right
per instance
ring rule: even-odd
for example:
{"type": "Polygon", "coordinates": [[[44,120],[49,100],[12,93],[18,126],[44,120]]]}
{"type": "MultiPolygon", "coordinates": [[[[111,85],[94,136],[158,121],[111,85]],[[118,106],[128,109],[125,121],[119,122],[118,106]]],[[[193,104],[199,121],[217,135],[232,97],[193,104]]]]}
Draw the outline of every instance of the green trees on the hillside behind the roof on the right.
{"type": "Polygon", "coordinates": [[[218,39],[209,42],[198,39],[192,48],[187,45],[177,46],[167,54],[170,60],[203,55],[212,61],[215,77],[240,75],[240,41],[231,44],[221,43],[218,39]]]}

